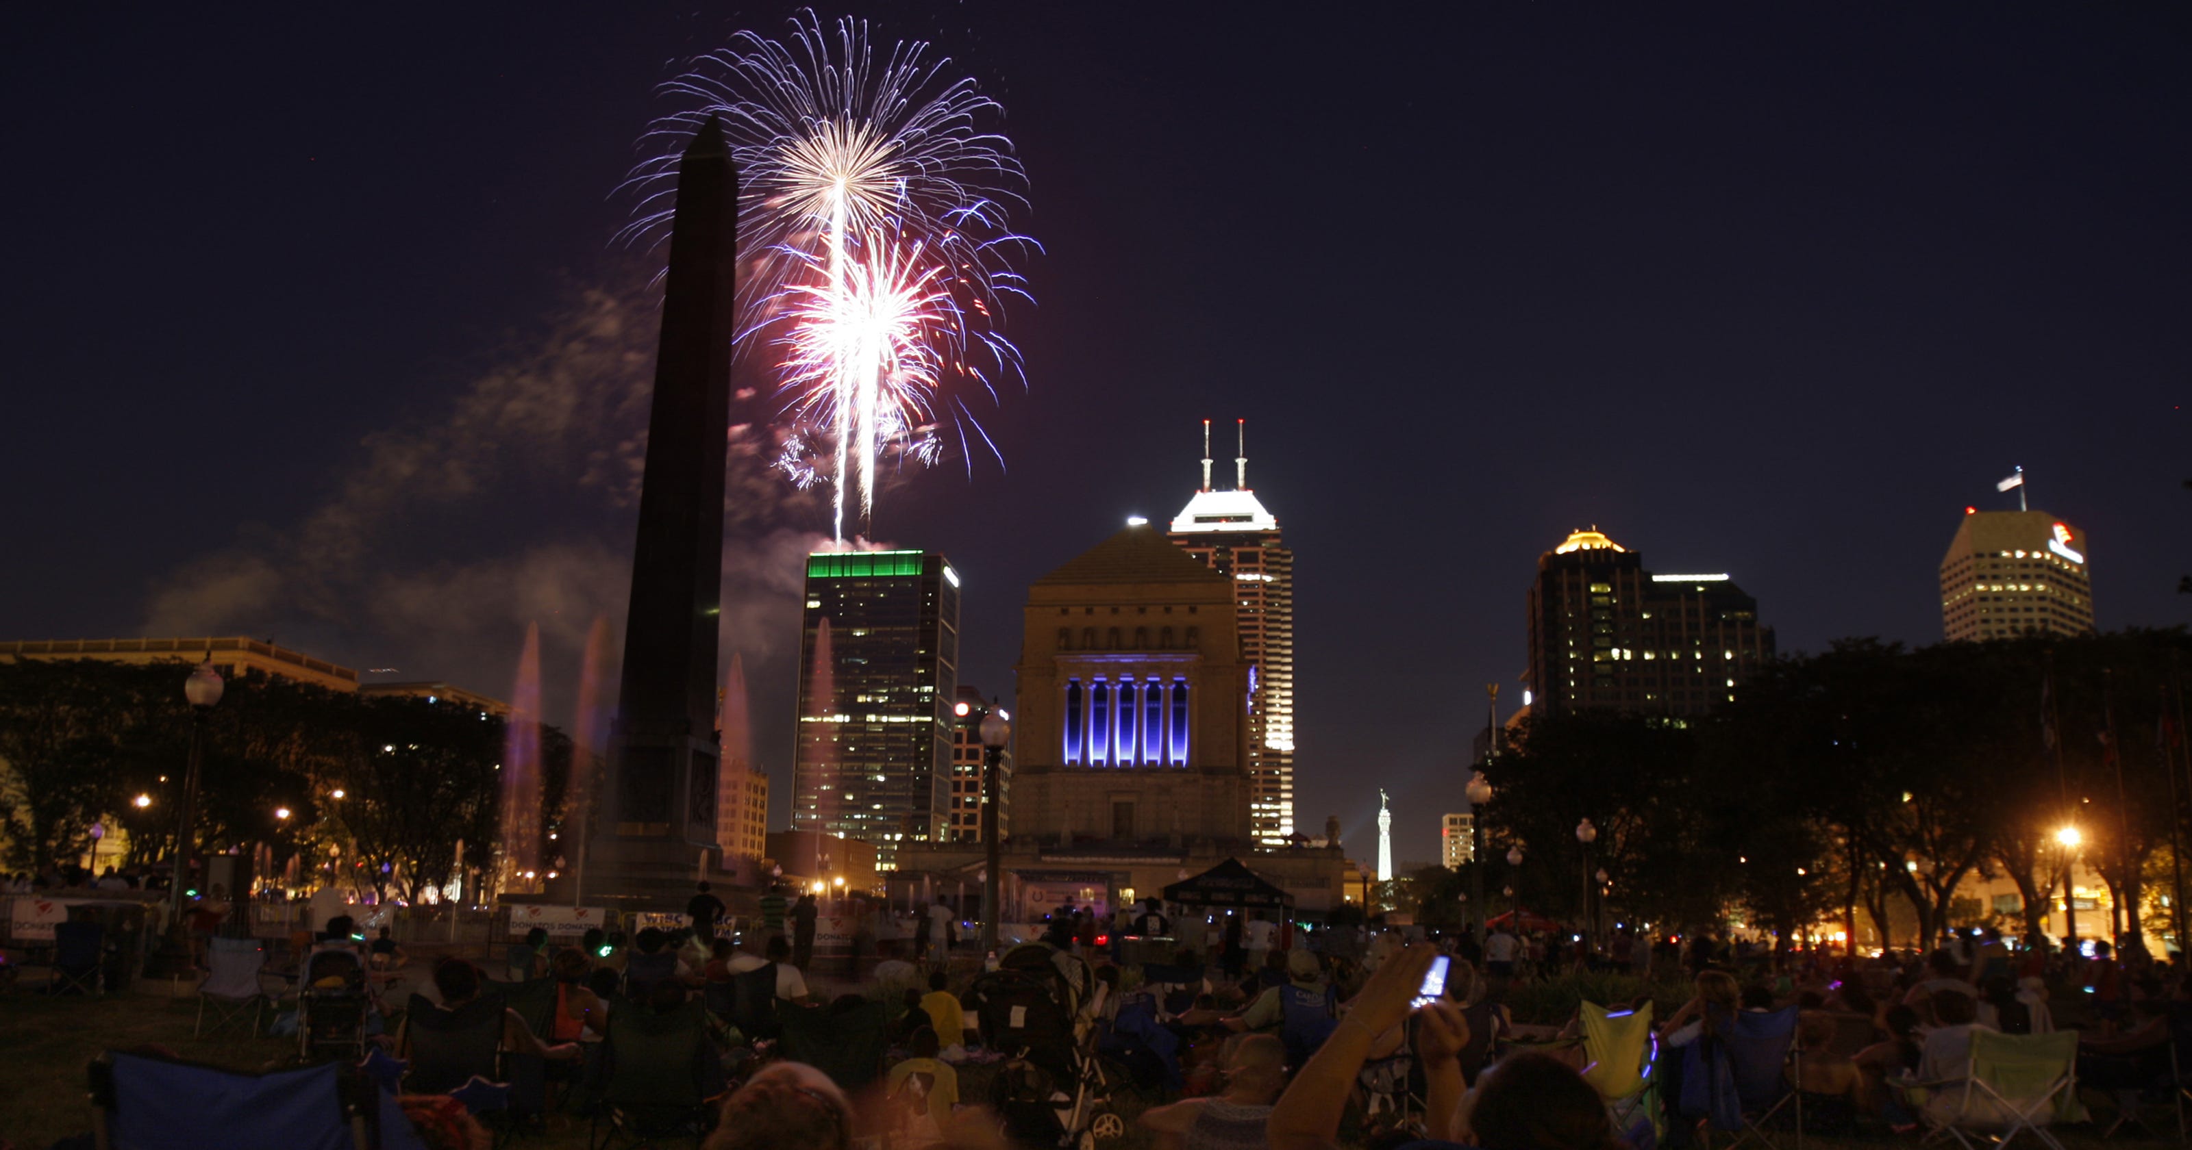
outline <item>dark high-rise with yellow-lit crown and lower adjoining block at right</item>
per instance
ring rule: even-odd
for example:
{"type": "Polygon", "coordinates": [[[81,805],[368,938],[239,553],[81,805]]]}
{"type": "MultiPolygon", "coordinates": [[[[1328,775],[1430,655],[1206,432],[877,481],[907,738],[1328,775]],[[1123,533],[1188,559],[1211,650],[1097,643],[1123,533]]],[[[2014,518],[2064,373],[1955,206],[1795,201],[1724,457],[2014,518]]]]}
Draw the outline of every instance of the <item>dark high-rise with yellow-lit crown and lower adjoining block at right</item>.
{"type": "Polygon", "coordinates": [[[1583,708],[1701,714],[1773,657],[1758,600],[1725,574],[1651,574],[1591,530],[1537,561],[1530,714],[1583,708]]]}

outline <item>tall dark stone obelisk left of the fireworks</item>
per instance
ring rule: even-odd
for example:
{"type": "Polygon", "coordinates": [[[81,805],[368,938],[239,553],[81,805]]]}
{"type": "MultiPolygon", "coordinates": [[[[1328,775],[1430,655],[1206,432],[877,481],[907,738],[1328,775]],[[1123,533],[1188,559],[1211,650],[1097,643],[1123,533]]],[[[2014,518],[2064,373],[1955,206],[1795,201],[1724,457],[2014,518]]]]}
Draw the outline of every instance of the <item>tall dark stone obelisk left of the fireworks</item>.
{"type": "Polygon", "coordinates": [[[587,835],[590,905],[677,909],[715,848],[715,659],[737,326],[739,173],[710,118],[677,162],[662,340],[631,548],[623,690],[587,835]]]}

